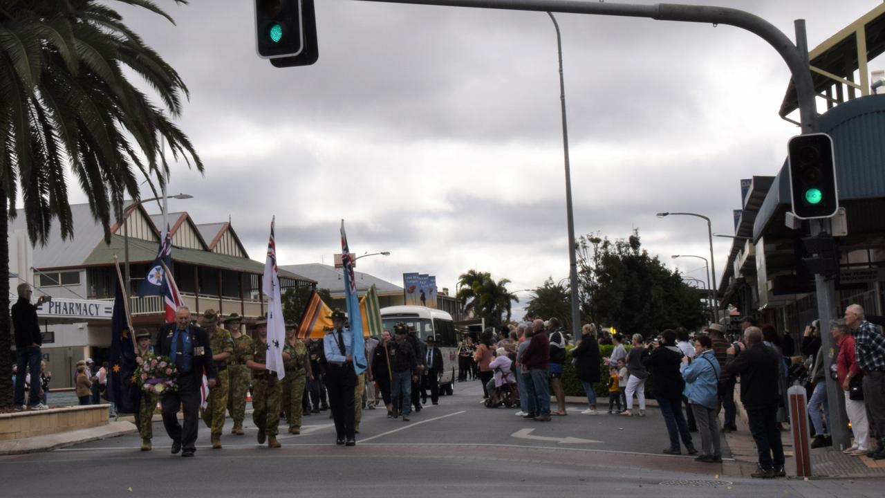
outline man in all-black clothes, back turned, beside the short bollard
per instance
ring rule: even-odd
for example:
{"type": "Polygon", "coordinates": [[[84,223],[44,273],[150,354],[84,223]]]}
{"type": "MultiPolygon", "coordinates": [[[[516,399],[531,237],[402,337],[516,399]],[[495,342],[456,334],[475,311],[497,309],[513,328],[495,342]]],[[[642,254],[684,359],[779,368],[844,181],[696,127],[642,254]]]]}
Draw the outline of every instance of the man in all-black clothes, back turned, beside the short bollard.
{"type": "Polygon", "coordinates": [[[750,476],[762,479],[784,477],[781,430],[777,423],[781,355],[762,343],[762,331],[758,327],[747,327],[743,340],[738,343],[740,350],[735,350],[735,346],[728,348],[725,368],[731,375],[741,376],[741,402],[747,410],[753,440],[756,440],[759,467],[750,476]]]}

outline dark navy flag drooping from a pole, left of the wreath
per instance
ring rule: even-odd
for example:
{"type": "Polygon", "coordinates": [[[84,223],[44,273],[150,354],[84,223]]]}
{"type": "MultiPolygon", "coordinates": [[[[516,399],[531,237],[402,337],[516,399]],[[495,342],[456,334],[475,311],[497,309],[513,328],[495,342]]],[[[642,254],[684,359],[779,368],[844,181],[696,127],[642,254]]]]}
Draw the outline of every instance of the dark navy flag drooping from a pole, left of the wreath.
{"type": "Polygon", "coordinates": [[[119,292],[113,301],[111,318],[111,355],[108,371],[107,398],[117,405],[119,413],[137,413],[141,390],[134,382],[135,347],[133,334],[129,330],[123,294],[119,292]]]}

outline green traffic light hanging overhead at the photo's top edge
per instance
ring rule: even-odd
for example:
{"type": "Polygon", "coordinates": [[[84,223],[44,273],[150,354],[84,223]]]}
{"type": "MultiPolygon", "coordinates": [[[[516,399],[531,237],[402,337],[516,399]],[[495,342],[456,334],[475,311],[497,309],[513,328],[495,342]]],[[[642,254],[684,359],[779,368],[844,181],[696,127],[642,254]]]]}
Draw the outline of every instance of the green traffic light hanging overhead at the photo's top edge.
{"type": "Polygon", "coordinates": [[[258,56],[274,66],[306,66],[317,60],[313,0],[255,0],[258,56]]]}

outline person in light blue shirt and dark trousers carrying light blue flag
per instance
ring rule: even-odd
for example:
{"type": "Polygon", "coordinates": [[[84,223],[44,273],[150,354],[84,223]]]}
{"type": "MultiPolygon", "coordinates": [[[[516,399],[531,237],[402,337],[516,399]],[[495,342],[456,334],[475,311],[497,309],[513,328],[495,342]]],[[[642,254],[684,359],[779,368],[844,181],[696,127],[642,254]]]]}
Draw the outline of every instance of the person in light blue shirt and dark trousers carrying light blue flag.
{"type": "Polygon", "coordinates": [[[332,313],[334,328],[323,338],[326,355],[326,389],[329,408],[335,420],[336,444],[354,446],[357,444],[354,422],[354,390],[357,387],[357,372],[353,369],[353,337],[344,329],[344,314],[332,313]]]}

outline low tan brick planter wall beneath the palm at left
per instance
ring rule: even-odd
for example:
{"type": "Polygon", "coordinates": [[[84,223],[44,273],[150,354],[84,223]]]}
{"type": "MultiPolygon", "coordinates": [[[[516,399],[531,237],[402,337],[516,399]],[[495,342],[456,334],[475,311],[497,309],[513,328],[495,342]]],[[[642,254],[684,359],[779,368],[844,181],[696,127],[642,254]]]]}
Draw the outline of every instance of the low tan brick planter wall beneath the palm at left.
{"type": "Polygon", "coordinates": [[[87,405],[0,414],[0,440],[20,440],[107,425],[108,406],[87,405]]]}

